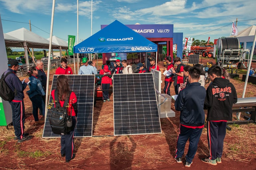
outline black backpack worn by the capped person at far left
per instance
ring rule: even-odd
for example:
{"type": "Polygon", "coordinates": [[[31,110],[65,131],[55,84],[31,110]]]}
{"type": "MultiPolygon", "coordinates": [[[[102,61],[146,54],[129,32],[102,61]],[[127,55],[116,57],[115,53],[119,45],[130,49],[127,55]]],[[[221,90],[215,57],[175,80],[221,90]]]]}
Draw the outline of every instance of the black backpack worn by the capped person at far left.
{"type": "Polygon", "coordinates": [[[12,101],[14,99],[15,94],[17,93],[16,89],[12,91],[9,85],[7,85],[7,83],[5,82],[5,78],[9,74],[12,74],[12,72],[7,72],[6,75],[3,74],[0,79],[0,96],[2,97],[3,100],[6,100],[6,101],[12,101]]]}

